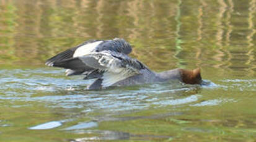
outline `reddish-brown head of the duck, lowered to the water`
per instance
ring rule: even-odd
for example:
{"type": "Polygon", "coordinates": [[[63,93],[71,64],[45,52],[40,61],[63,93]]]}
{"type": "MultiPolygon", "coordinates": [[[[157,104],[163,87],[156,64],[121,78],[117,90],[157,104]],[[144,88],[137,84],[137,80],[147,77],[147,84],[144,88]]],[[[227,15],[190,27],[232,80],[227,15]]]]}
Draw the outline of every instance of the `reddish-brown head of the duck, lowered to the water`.
{"type": "Polygon", "coordinates": [[[202,81],[200,68],[195,70],[179,69],[180,75],[182,76],[183,83],[186,84],[200,84],[202,81]]]}

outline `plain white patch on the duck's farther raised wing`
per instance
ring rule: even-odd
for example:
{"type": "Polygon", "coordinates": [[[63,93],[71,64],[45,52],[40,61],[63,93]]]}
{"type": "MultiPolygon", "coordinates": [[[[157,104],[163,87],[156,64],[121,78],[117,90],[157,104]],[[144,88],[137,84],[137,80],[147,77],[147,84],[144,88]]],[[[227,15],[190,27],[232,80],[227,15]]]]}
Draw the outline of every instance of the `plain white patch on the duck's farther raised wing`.
{"type": "Polygon", "coordinates": [[[90,52],[94,51],[94,49],[103,41],[96,41],[94,43],[85,44],[76,49],[74,52],[73,57],[79,57],[89,54],[90,52]]]}

